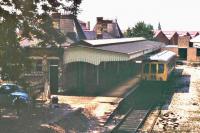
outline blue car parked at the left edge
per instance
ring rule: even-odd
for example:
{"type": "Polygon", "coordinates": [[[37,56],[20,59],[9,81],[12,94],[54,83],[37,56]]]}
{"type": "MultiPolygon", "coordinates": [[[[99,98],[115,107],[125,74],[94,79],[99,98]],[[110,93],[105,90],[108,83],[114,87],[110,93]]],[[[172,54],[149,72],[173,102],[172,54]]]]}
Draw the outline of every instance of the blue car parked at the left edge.
{"type": "Polygon", "coordinates": [[[30,97],[21,86],[14,83],[3,83],[0,85],[1,106],[28,105],[29,103],[30,97]]]}

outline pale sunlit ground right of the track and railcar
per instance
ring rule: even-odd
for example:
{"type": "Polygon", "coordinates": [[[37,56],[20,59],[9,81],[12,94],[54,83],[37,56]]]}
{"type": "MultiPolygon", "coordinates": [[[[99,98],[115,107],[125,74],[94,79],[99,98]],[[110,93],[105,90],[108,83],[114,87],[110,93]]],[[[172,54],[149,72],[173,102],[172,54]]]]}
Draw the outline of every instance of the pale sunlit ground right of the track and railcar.
{"type": "Polygon", "coordinates": [[[154,132],[200,132],[200,67],[178,66],[175,93],[162,107],[154,132]]]}

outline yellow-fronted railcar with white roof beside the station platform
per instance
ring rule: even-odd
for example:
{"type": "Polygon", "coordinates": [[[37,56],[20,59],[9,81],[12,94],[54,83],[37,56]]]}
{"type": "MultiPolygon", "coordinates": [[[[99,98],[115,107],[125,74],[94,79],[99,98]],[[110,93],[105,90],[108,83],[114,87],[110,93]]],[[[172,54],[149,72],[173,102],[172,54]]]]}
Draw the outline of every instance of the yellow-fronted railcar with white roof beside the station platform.
{"type": "Polygon", "coordinates": [[[142,80],[168,81],[176,66],[176,53],[162,51],[151,55],[142,63],[142,80]]]}

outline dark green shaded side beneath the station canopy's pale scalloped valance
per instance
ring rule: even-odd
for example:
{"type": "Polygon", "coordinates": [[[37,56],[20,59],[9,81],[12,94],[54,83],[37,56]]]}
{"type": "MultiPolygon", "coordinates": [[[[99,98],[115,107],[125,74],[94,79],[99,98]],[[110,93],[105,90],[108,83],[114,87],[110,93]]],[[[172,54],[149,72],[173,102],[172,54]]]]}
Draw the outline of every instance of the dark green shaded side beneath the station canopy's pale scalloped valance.
{"type": "Polygon", "coordinates": [[[139,65],[134,61],[101,62],[98,66],[69,63],[64,67],[63,87],[67,94],[99,95],[140,73],[139,65]]]}

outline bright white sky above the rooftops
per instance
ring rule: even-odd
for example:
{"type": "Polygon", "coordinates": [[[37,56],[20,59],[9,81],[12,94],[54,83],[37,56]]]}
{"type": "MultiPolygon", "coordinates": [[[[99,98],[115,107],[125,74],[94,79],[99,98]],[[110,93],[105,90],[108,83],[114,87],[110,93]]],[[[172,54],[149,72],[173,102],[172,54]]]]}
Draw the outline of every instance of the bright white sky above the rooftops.
{"type": "Polygon", "coordinates": [[[115,20],[124,31],[139,21],[168,31],[200,31],[200,0],[83,0],[78,19],[90,21],[93,29],[96,17],[115,20]]]}

